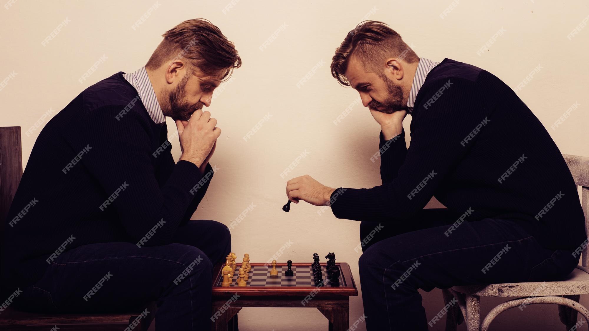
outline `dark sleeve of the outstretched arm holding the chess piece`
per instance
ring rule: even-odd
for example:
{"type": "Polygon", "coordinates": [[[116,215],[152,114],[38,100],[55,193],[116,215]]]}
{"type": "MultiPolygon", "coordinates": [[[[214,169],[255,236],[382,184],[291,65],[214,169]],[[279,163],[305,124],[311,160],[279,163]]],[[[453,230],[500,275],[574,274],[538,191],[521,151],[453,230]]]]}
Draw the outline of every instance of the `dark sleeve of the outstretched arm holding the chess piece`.
{"type": "MultiPolygon", "coordinates": [[[[439,90],[447,80],[423,85],[419,93],[422,97],[416,100],[416,107],[422,108],[419,116],[413,118],[411,145],[398,176],[373,188],[343,190],[332,203],[337,218],[399,221],[428,203],[446,174],[470,150],[472,143],[462,145],[461,141],[485,119],[475,84],[459,78],[451,78],[449,82],[451,85],[443,92],[439,90]]],[[[383,161],[386,167],[389,160],[383,161]]]]}

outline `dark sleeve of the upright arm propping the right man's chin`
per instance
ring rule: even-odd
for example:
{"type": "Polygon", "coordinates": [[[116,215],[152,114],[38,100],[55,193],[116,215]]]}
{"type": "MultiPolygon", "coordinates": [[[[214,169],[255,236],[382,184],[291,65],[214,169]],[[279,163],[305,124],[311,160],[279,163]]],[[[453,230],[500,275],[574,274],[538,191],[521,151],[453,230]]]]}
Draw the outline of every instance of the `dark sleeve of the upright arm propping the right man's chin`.
{"type": "Polygon", "coordinates": [[[399,168],[405,161],[407,147],[405,146],[405,129],[401,134],[390,140],[385,140],[382,131],[379,135],[379,153],[380,153],[380,179],[382,183],[391,183],[399,172],[399,168]]]}

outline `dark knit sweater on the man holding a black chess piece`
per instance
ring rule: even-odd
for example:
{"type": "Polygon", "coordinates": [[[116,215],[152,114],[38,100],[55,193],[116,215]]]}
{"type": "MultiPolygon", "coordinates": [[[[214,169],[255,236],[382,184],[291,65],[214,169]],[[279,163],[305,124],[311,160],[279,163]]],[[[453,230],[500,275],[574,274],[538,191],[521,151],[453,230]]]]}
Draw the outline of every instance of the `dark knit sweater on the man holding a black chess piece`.
{"type": "Polygon", "coordinates": [[[391,141],[381,134],[380,154],[382,185],[336,190],[336,217],[392,224],[435,196],[457,217],[474,210],[466,221],[518,221],[544,247],[574,249],[585,240],[577,188],[557,145],[483,69],[444,59],[416,97],[411,146],[404,130],[391,141]]]}

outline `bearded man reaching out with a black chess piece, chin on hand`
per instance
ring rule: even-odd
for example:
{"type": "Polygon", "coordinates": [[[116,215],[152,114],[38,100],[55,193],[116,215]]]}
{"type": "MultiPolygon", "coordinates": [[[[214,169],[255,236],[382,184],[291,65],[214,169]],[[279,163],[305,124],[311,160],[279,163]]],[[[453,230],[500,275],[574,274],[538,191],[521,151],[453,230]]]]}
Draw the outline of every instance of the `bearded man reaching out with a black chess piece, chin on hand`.
{"type": "Polygon", "coordinates": [[[289,199],[358,220],[368,330],[427,330],[418,289],[557,280],[578,263],[584,215],[567,164],[540,121],[489,72],[419,58],[368,21],[337,49],[332,74],[380,124],[382,185],[330,188],[309,176],[289,199]],[[411,147],[402,127],[412,114],[411,147]],[[435,196],[444,209],[423,209],[435,196]]]}

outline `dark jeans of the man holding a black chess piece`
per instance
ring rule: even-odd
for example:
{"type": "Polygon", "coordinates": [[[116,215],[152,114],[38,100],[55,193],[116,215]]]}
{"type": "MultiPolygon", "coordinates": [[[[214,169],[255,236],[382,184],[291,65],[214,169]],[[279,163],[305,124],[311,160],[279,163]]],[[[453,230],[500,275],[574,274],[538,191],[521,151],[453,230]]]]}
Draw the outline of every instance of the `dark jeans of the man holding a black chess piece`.
{"type": "Polygon", "coordinates": [[[558,280],[577,266],[572,250],[541,247],[517,221],[464,221],[446,232],[458,217],[446,209],[424,209],[382,227],[360,224],[360,240],[368,241],[359,267],[369,331],[428,330],[435,313],[425,315],[418,289],[558,280]]]}

